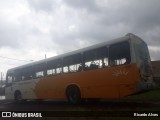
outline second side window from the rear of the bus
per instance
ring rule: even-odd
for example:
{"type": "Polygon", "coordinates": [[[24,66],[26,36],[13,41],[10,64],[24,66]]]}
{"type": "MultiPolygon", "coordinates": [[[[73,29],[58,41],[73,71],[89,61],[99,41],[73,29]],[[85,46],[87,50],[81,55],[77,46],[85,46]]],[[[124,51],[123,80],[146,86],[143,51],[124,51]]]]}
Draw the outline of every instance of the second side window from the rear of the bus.
{"type": "Polygon", "coordinates": [[[84,52],[84,69],[92,70],[108,66],[108,48],[101,47],[84,52]]]}

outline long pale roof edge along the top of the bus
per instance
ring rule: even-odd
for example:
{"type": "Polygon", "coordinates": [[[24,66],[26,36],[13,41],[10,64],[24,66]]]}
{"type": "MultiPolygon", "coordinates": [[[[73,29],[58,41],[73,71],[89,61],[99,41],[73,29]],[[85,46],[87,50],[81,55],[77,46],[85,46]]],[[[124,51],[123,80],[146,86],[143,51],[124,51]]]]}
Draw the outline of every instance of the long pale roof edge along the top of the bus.
{"type": "Polygon", "coordinates": [[[33,65],[36,65],[36,64],[41,64],[41,63],[45,63],[45,62],[47,63],[48,61],[52,61],[52,60],[56,60],[56,59],[62,59],[63,57],[66,57],[66,56],[74,55],[74,54],[77,54],[77,53],[83,53],[84,51],[96,49],[96,48],[103,47],[103,46],[109,46],[109,45],[112,45],[112,44],[115,44],[115,43],[118,43],[118,42],[127,41],[127,40],[130,40],[130,38],[132,36],[138,37],[138,36],[136,36],[132,33],[128,33],[125,36],[117,38],[117,39],[112,39],[110,41],[105,41],[105,42],[102,42],[102,43],[98,43],[96,45],[92,45],[92,46],[89,46],[89,47],[78,49],[78,50],[75,50],[75,51],[72,51],[72,52],[64,53],[64,54],[57,55],[57,56],[54,56],[54,57],[51,57],[51,58],[47,58],[47,59],[43,59],[43,60],[39,60],[39,61],[29,63],[29,64],[25,64],[25,65],[22,65],[22,66],[19,66],[19,67],[11,68],[11,69],[8,70],[8,72],[14,71],[16,69],[21,69],[21,68],[33,66],[33,65]]]}

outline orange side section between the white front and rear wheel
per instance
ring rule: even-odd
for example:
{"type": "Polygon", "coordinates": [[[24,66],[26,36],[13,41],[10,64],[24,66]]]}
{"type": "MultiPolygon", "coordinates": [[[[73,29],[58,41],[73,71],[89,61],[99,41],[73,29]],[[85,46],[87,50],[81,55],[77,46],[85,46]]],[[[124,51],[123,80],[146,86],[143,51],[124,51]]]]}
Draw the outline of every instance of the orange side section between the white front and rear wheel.
{"type": "Polygon", "coordinates": [[[38,99],[65,98],[66,84],[67,80],[61,75],[48,76],[37,83],[36,96],[38,99]]]}

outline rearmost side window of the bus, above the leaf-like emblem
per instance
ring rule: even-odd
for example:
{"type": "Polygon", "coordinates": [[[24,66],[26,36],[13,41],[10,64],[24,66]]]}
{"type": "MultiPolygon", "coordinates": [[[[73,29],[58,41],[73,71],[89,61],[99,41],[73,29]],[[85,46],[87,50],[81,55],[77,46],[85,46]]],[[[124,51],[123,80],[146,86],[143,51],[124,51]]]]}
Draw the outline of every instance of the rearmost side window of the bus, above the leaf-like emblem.
{"type": "Polygon", "coordinates": [[[130,47],[128,42],[113,44],[109,48],[110,66],[129,64],[130,47]]]}

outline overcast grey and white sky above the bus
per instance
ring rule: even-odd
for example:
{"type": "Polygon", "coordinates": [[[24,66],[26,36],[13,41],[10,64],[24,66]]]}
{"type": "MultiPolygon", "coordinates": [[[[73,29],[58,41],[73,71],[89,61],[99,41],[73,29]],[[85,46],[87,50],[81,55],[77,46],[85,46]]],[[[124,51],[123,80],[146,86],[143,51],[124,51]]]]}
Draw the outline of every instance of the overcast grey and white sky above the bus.
{"type": "Polygon", "coordinates": [[[0,0],[0,72],[127,33],[160,60],[160,0],[0,0]]]}

